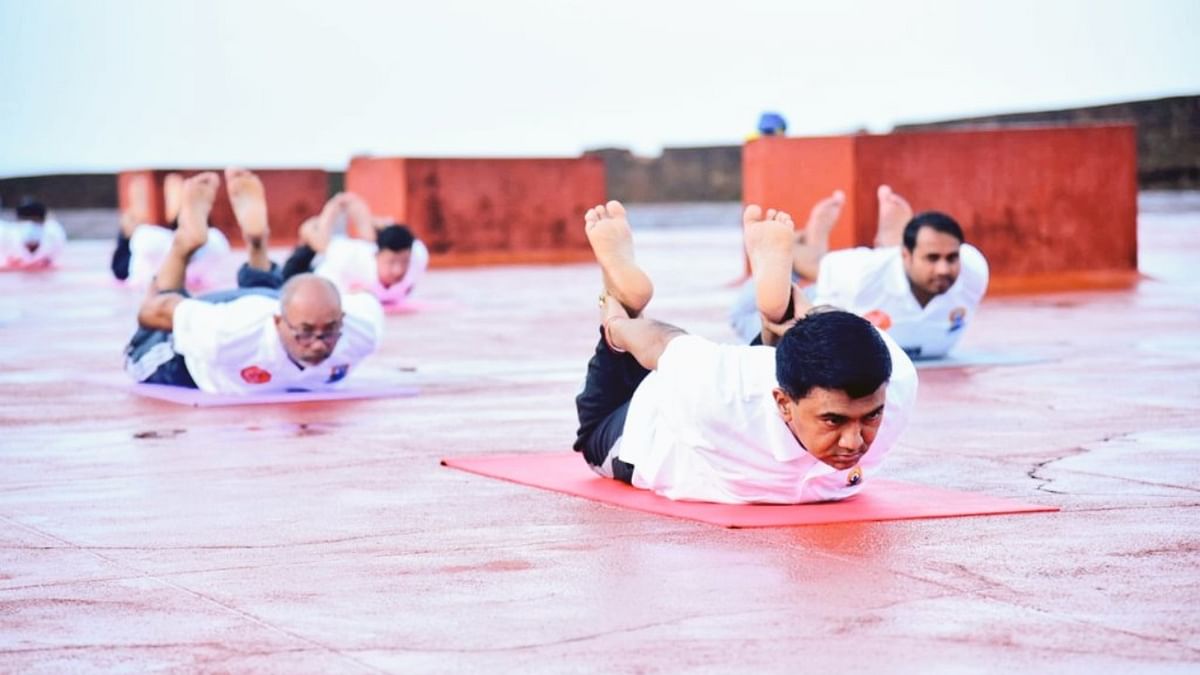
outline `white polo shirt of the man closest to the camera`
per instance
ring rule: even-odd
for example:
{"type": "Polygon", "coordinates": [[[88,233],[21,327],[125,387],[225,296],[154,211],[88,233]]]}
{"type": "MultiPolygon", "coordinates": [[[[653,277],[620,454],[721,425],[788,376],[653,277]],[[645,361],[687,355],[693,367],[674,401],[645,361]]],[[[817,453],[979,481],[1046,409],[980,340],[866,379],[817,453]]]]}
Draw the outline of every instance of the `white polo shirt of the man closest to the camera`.
{"type": "Polygon", "coordinates": [[[818,461],[787,428],[772,394],[774,347],[695,335],[671,340],[658,370],[637,387],[618,456],[634,465],[635,486],[672,500],[804,503],[854,495],[895,444],[917,400],[912,362],[883,340],[892,354],[883,422],[854,468],[818,461]]]}

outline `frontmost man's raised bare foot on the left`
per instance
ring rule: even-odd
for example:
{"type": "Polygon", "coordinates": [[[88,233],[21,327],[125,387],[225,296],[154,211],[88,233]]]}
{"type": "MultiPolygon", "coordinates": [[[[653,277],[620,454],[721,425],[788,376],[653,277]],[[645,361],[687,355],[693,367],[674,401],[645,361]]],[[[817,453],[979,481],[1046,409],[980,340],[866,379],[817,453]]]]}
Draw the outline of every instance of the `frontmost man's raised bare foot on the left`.
{"type": "Polygon", "coordinates": [[[625,207],[616,199],[598,204],[583,215],[583,227],[604,273],[605,291],[629,316],[641,315],[654,295],[654,283],[634,259],[634,233],[625,219],[625,207]]]}

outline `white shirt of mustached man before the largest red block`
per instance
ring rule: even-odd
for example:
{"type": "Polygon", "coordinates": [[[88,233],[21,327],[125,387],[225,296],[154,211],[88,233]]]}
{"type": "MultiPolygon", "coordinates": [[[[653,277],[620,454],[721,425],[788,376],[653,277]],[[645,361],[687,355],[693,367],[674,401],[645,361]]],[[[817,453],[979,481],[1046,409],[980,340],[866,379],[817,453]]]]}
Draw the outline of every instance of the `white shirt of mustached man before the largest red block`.
{"type": "Polygon", "coordinates": [[[942,357],[962,336],[988,291],[988,261],[970,244],[959,251],[961,271],[954,285],[924,307],[917,303],[899,246],[848,249],[821,258],[814,304],[866,316],[883,312],[888,334],[913,358],[942,357]]]}

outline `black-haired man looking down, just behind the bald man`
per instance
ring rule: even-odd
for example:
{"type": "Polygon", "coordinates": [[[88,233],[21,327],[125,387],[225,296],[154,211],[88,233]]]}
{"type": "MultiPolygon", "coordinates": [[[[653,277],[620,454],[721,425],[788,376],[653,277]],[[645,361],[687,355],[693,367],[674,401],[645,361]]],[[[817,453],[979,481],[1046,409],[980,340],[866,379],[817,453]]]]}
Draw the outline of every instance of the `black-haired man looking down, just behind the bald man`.
{"type": "Polygon", "coordinates": [[[430,251],[407,226],[373,217],[361,197],[342,192],[300,226],[300,245],[283,263],[283,279],[314,271],[343,291],[367,291],[394,304],[413,292],[428,264],[430,251]],[[350,237],[334,237],[342,214],[350,237]]]}

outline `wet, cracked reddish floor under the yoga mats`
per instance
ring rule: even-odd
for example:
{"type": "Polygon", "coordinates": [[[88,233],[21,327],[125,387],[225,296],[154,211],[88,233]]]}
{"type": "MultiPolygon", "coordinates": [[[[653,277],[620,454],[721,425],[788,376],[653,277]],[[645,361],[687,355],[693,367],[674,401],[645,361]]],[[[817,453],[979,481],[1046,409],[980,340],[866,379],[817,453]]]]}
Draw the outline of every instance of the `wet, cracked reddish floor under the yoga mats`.
{"type": "MultiPolygon", "coordinates": [[[[749,531],[438,466],[568,448],[589,265],[431,274],[418,398],[190,410],[97,383],[136,297],[73,243],[0,275],[0,671],[1195,673],[1200,204],[1144,207],[1148,279],[986,300],[965,347],[1052,360],[922,374],[887,465],[1061,513],[749,531]]],[[[736,225],[638,243],[730,339],[736,225]]]]}

